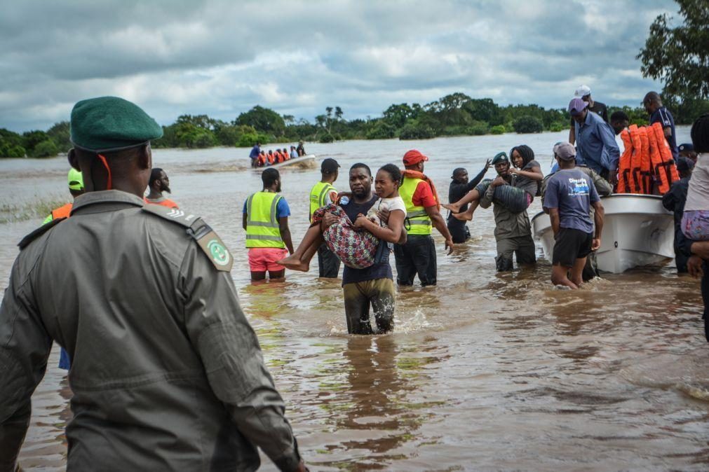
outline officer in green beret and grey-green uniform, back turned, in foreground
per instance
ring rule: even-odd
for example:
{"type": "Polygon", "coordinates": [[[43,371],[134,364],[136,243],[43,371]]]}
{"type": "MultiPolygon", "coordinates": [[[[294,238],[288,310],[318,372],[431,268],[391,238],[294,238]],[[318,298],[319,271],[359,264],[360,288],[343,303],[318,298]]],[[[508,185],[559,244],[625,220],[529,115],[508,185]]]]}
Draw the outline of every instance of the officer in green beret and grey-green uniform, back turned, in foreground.
{"type": "Polygon", "coordinates": [[[13,471],[52,341],[72,358],[67,470],[306,470],[284,402],[200,217],[143,206],[150,140],[133,103],[72,110],[86,193],[20,243],[0,308],[0,471],[13,471]],[[61,277],[57,277],[61,275],[61,277]]]}

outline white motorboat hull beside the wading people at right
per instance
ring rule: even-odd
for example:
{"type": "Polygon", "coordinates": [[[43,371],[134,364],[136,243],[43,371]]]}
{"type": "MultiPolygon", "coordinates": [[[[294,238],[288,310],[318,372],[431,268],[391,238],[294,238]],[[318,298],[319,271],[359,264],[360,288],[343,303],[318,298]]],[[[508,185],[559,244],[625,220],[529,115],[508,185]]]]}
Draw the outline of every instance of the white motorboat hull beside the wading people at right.
{"type": "MultiPolygon", "coordinates": [[[[674,218],[662,197],[619,193],[601,199],[605,209],[598,269],[620,274],[632,267],[656,265],[674,258],[674,218]]],[[[554,232],[549,215],[532,218],[532,234],[552,260],[554,232]]]]}

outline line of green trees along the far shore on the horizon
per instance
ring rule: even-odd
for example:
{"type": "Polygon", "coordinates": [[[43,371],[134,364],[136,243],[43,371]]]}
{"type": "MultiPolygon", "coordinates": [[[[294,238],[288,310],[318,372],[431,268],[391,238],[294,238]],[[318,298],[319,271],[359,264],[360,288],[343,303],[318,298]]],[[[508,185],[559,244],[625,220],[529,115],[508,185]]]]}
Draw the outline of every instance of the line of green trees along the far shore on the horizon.
{"type": "MultiPolygon", "coordinates": [[[[608,107],[608,113],[623,110],[630,122],[647,124],[640,107],[608,107]]],[[[709,112],[709,100],[684,100],[671,108],[677,124],[691,123],[693,117],[709,112]]],[[[203,149],[213,146],[253,146],[297,142],[335,142],[343,139],[430,139],[447,136],[479,136],[506,132],[537,133],[569,129],[565,108],[545,109],[539,105],[500,106],[491,98],[471,98],[451,93],[426,105],[390,105],[381,117],[346,120],[342,108],[327,107],[314,122],[279,115],[256,105],[235,120],[225,122],[208,115],[181,115],[172,125],[163,126],[164,135],[151,143],[155,148],[203,149]]],[[[0,156],[50,157],[67,152],[69,122],[52,125],[47,131],[22,134],[0,129],[0,156]]]]}

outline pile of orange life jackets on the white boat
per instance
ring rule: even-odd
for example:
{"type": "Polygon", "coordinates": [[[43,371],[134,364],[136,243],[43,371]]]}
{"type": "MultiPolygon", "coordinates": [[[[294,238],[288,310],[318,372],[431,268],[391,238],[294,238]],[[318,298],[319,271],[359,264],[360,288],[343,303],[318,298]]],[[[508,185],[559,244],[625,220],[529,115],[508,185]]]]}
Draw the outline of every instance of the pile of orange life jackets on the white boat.
{"type": "Polygon", "coordinates": [[[672,151],[664,137],[662,125],[630,125],[620,133],[625,151],[618,162],[617,193],[644,193],[652,195],[657,188],[660,195],[669,191],[679,180],[672,151]]]}

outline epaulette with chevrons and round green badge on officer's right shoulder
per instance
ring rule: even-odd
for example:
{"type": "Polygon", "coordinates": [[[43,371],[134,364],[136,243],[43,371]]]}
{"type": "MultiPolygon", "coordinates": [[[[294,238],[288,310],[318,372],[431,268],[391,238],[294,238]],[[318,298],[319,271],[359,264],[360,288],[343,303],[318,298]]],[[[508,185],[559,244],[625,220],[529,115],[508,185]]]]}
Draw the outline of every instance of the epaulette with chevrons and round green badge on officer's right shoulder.
{"type": "Polygon", "coordinates": [[[143,211],[186,227],[186,233],[202,248],[202,251],[211,260],[216,270],[222,272],[231,271],[234,258],[221,238],[201,217],[197,217],[194,214],[186,214],[181,209],[163,207],[162,205],[145,205],[143,211]]]}

